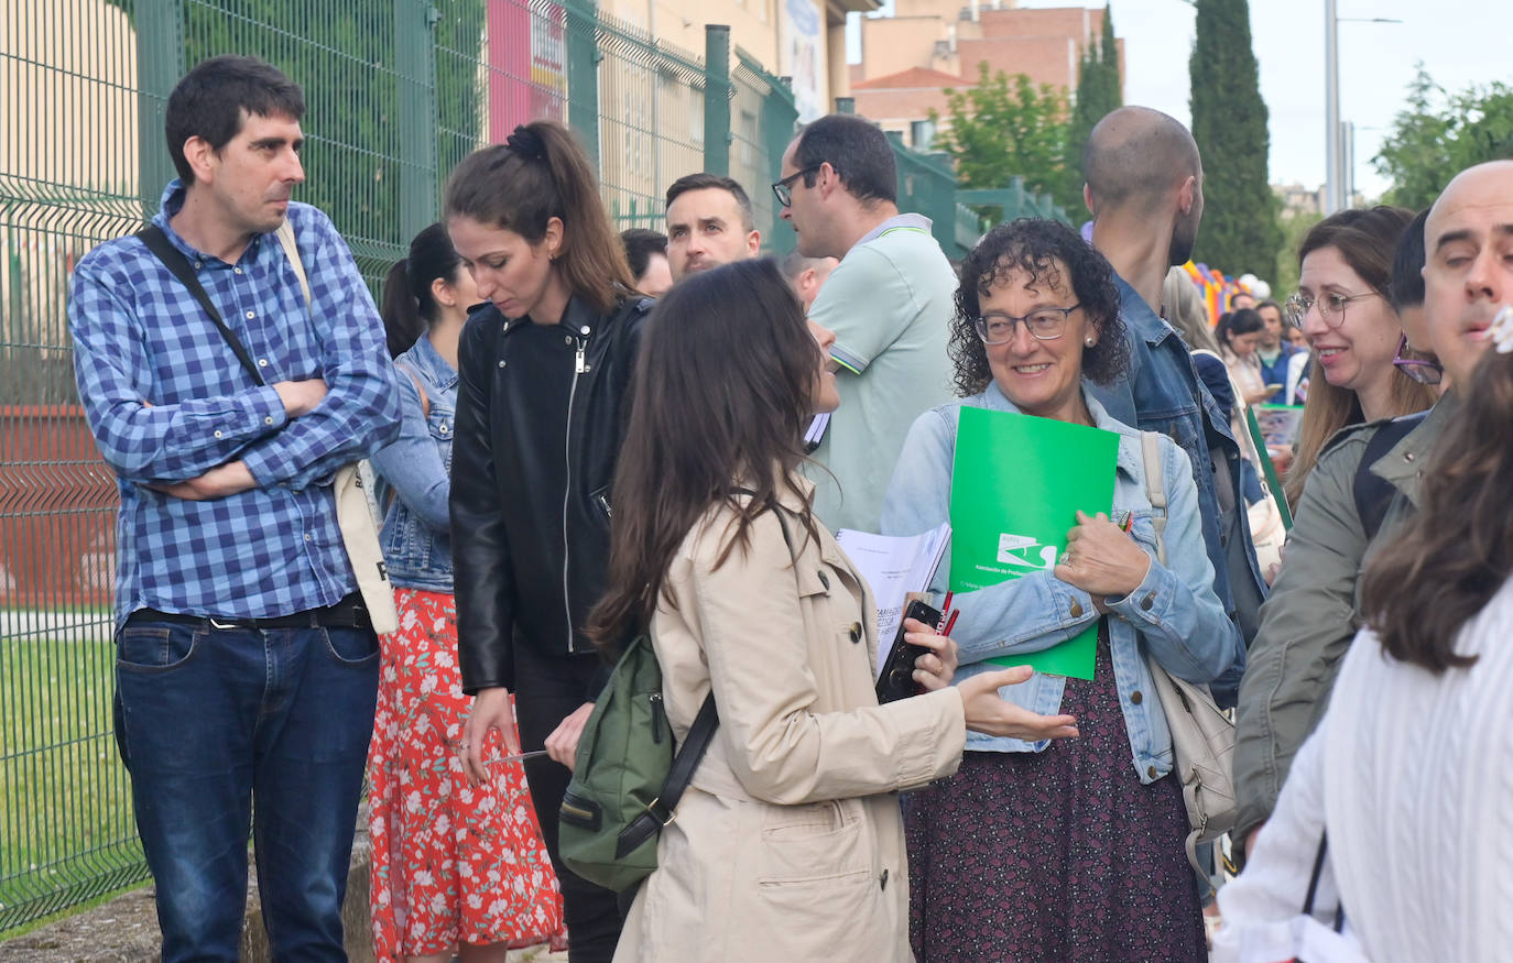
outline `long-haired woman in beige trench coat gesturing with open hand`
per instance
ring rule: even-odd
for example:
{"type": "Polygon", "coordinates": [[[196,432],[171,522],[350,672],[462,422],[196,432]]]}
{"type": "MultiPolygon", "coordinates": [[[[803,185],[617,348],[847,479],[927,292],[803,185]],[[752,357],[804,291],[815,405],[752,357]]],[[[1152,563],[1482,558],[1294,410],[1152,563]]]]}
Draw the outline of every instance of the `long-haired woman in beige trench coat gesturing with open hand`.
{"type": "Polygon", "coordinates": [[[651,630],[675,739],[710,692],[720,723],[616,960],[909,960],[896,792],[953,773],[967,729],[1076,735],[997,697],[1026,668],[947,686],[923,632],[930,691],[878,704],[871,593],[797,473],[840,404],[825,358],[769,260],[684,278],[646,328],[592,633],[651,630]]]}

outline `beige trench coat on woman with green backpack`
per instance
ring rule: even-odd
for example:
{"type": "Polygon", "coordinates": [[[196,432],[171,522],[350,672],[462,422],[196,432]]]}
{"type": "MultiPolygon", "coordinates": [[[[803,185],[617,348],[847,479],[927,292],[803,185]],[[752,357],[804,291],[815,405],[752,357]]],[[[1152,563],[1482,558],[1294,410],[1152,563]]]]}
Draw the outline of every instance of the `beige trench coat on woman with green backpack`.
{"type": "MultiPolygon", "coordinates": [[[[808,487],[808,482],[800,482],[808,487]]],[[[773,512],[719,568],[734,514],[693,528],[652,620],[681,741],[714,686],[720,727],[657,850],[616,963],[912,960],[897,791],[950,776],[965,720],[947,688],[878,706],[871,593],[823,526],[773,512]]],[[[891,643],[891,639],[890,639],[891,643]]]]}

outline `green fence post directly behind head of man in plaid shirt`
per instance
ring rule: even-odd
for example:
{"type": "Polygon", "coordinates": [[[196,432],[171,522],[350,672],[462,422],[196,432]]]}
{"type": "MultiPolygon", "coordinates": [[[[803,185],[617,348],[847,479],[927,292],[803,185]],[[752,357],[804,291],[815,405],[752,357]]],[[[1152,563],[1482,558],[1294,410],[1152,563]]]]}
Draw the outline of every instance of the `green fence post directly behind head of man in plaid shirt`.
{"type": "Polygon", "coordinates": [[[183,0],[136,5],[136,151],[144,219],[157,212],[163,184],[177,177],[163,138],[168,95],[185,73],[183,0]]]}

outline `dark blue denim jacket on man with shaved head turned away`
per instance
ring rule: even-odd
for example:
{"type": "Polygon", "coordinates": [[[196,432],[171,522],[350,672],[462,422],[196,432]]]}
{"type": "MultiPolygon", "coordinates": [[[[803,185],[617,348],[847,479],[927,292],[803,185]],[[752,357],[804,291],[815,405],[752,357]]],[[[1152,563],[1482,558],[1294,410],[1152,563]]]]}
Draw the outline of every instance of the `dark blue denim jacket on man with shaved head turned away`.
{"type": "MultiPolygon", "coordinates": [[[[1159,431],[1188,452],[1189,475],[1198,488],[1203,543],[1213,567],[1213,591],[1224,611],[1239,623],[1248,644],[1260,626],[1266,582],[1250,538],[1250,520],[1244,511],[1244,466],[1229,414],[1198,379],[1182,336],[1118,274],[1114,284],[1120,290],[1120,314],[1130,349],[1129,372],[1115,384],[1088,386],[1088,390],[1117,420],[1142,431],[1159,431]],[[1210,452],[1210,446],[1218,451],[1210,452]],[[1219,508],[1210,454],[1229,466],[1230,497],[1226,500],[1239,506],[1238,511],[1219,508]]],[[[1241,661],[1233,671],[1213,682],[1219,704],[1235,704],[1244,668],[1241,661]]]]}

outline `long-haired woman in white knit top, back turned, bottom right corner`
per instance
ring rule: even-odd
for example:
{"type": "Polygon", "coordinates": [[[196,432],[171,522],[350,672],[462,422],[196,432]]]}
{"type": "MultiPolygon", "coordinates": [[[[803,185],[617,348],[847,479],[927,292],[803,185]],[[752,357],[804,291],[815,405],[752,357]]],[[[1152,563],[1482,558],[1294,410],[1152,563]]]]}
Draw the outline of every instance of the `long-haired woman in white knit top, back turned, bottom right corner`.
{"type": "Polygon", "coordinates": [[[1489,340],[1499,351],[1456,384],[1463,402],[1424,467],[1418,514],[1362,576],[1366,627],[1328,714],[1245,872],[1219,890],[1215,960],[1288,955],[1262,954],[1291,931],[1315,872],[1319,927],[1342,910],[1360,958],[1507,957],[1513,313],[1489,340]]]}

